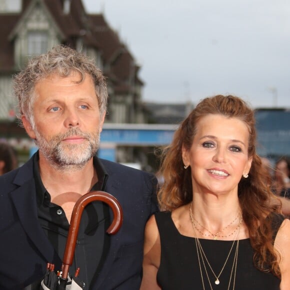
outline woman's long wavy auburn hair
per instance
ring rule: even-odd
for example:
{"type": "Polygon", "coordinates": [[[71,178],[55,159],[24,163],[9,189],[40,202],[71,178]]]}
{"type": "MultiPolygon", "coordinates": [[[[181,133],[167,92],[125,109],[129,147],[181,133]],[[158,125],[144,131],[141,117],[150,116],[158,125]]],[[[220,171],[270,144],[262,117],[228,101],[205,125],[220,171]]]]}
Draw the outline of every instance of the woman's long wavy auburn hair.
{"type": "MultiPolygon", "coordinates": [[[[272,239],[272,214],[277,206],[271,205],[275,195],[270,190],[271,178],[256,153],[254,112],[241,98],[232,95],[215,95],[201,100],[176,130],[171,144],[161,153],[159,174],[164,183],[158,192],[161,210],[173,210],[192,200],[191,169],[183,168],[182,146],[191,147],[198,120],[208,114],[220,114],[242,120],[248,128],[248,157],[252,157],[248,178],[238,183],[238,198],[243,220],[248,228],[254,249],[254,263],[263,271],[280,276],[279,255],[272,239]],[[266,218],[267,217],[267,218],[266,218]]],[[[194,192],[193,192],[194,194],[194,192]]]]}

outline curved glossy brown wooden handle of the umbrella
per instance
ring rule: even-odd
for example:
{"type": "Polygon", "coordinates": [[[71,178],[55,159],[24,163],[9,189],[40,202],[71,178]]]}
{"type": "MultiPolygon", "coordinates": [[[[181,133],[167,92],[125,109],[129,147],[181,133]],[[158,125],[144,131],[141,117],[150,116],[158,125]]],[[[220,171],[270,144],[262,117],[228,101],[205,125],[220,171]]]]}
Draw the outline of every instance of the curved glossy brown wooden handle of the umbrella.
{"type": "Polygon", "coordinates": [[[75,243],[79,228],[79,222],[84,207],[92,202],[100,200],[107,203],[113,211],[113,221],[106,230],[109,234],[116,233],[122,225],[123,212],[118,200],[111,194],[104,191],[91,191],[82,195],[76,202],[72,210],[68,236],[66,240],[64,255],[61,265],[61,278],[66,279],[68,275],[68,268],[72,264],[75,243]]]}

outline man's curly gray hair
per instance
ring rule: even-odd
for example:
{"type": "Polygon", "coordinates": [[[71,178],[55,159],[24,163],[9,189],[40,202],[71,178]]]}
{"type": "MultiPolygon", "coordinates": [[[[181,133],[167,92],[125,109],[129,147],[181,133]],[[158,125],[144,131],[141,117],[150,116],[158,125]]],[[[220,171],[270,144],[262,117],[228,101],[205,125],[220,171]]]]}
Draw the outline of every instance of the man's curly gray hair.
{"type": "Polygon", "coordinates": [[[83,53],[67,46],[58,45],[45,54],[32,57],[27,66],[13,76],[14,94],[18,100],[18,118],[21,119],[21,115],[24,115],[34,127],[35,84],[52,74],[65,77],[74,71],[80,75],[79,82],[84,79],[85,73],[90,75],[102,117],[106,111],[108,95],[106,80],[101,70],[95,66],[93,60],[83,53]]]}

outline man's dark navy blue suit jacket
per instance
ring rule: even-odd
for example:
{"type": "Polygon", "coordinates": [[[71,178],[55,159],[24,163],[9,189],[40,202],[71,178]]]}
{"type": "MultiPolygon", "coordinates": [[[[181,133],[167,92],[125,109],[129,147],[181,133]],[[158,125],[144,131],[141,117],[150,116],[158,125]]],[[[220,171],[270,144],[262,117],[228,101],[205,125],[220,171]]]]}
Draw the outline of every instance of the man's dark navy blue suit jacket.
{"type": "MultiPolygon", "coordinates": [[[[141,280],[144,226],[157,211],[156,178],[101,160],[108,173],[104,191],[123,209],[123,224],[110,237],[110,248],[91,289],[137,290],[141,280]]],[[[32,158],[0,176],[0,289],[22,289],[41,279],[46,263],[59,269],[58,257],[37,219],[32,158]]],[[[111,217],[112,217],[112,212],[111,217]]]]}

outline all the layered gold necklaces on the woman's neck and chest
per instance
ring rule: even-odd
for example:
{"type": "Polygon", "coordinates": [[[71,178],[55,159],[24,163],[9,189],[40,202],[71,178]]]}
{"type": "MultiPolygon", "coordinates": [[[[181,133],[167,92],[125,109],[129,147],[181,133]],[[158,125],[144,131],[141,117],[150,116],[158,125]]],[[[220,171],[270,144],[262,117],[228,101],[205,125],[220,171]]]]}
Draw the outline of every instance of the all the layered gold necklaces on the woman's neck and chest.
{"type": "MultiPolygon", "coordinates": [[[[189,217],[190,217],[190,220],[191,220],[191,224],[192,224],[192,229],[193,229],[193,232],[194,232],[194,236],[195,236],[195,246],[196,246],[196,252],[197,252],[197,258],[198,258],[198,265],[199,265],[199,270],[200,270],[200,276],[201,276],[201,282],[202,282],[202,287],[203,287],[203,290],[205,290],[205,286],[204,286],[204,280],[203,280],[203,274],[202,274],[202,267],[201,267],[201,262],[202,262],[202,266],[203,266],[203,269],[205,271],[205,275],[206,275],[206,278],[208,280],[208,283],[209,283],[209,286],[210,286],[210,289],[212,290],[212,286],[211,286],[211,282],[210,282],[210,279],[209,279],[209,276],[208,276],[208,272],[207,272],[207,269],[206,269],[206,265],[205,265],[205,262],[206,264],[208,265],[208,268],[211,270],[212,274],[214,275],[215,277],[215,281],[214,283],[216,285],[219,284],[219,276],[221,275],[227,261],[228,261],[228,258],[230,256],[230,253],[232,252],[232,249],[233,249],[233,246],[234,244],[236,244],[235,246],[235,250],[234,250],[234,256],[233,256],[233,261],[232,261],[232,266],[231,266],[231,271],[230,271],[230,276],[229,276],[229,282],[228,282],[228,287],[227,287],[227,290],[229,290],[229,287],[230,287],[230,283],[231,283],[231,280],[233,279],[233,284],[232,284],[232,289],[234,290],[234,284],[235,284],[235,273],[236,273],[236,265],[237,265],[237,255],[238,255],[238,243],[239,243],[239,240],[238,240],[238,236],[239,236],[239,228],[240,228],[240,225],[242,223],[242,218],[240,215],[240,222],[237,226],[237,228],[234,230],[234,232],[236,232],[236,236],[235,236],[235,239],[233,240],[232,244],[231,244],[231,247],[229,249],[229,252],[225,258],[225,261],[221,267],[221,270],[219,271],[219,273],[216,275],[215,272],[213,271],[205,253],[204,253],[204,250],[201,246],[201,243],[196,235],[196,232],[195,232],[195,224],[194,224],[194,218],[193,218],[193,215],[192,215],[192,210],[191,210],[191,205],[192,205],[192,202],[190,203],[190,206],[189,206],[189,217]],[[200,261],[201,260],[201,261],[200,261]]],[[[236,218],[234,219],[236,220],[236,218]]],[[[230,223],[232,224],[234,222],[234,220],[230,223]]],[[[227,228],[229,225],[227,225],[225,228],[227,228]]],[[[202,226],[203,227],[203,226],[202,226]]],[[[204,229],[206,229],[205,227],[203,227],[204,229]]],[[[223,228],[221,231],[219,231],[218,233],[222,232],[225,228],[223,228]]],[[[207,230],[207,229],[206,229],[207,230]]],[[[208,230],[207,230],[208,231],[208,230]]],[[[208,231],[210,233],[210,231],[208,231]]],[[[216,234],[212,234],[213,237],[216,236],[216,234]]],[[[214,238],[216,239],[216,238],[214,238]]]]}

